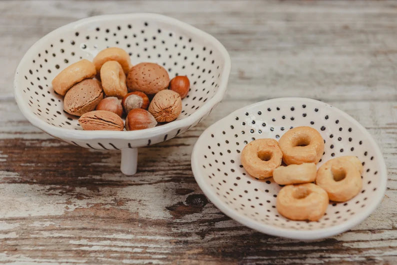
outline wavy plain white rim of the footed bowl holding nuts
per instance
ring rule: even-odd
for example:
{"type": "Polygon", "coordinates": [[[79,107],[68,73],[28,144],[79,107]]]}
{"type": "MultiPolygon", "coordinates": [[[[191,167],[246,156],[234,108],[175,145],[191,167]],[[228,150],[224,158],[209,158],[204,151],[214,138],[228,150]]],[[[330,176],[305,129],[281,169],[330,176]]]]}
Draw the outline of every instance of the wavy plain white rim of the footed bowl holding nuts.
{"type": "Polygon", "coordinates": [[[97,15],[97,16],[91,16],[83,19],[79,19],[77,21],[68,23],[66,25],[60,26],[51,32],[47,33],[45,36],[37,40],[23,55],[22,59],[20,60],[18,66],[16,67],[15,75],[14,75],[14,96],[16,103],[20,109],[20,111],[23,113],[23,115],[27,118],[27,120],[32,123],[34,126],[42,129],[43,131],[59,137],[68,137],[68,138],[73,138],[73,139],[78,139],[78,140],[85,140],[85,139],[104,139],[104,138],[117,138],[117,139],[139,139],[139,138],[147,138],[147,137],[153,137],[161,133],[166,133],[168,131],[172,131],[177,128],[181,128],[184,126],[189,126],[194,123],[197,119],[200,117],[204,116],[205,113],[207,113],[214,105],[216,105],[222,98],[224,93],[226,92],[227,88],[227,81],[228,81],[228,76],[230,74],[230,56],[226,50],[226,48],[212,35],[192,26],[189,25],[185,22],[182,22],[176,18],[172,18],[169,16],[161,15],[161,14],[156,14],[156,13],[125,13],[125,14],[106,14],[106,15],[97,15]],[[126,19],[126,18],[153,18],[156,19],[157,21],[161,22],[168,22],[169,24],[173,24],[175,26],[178,26],[180,28],[185,29],[186,31],[193,32],[196,35],[202,36],[205,39],[208,39],[211,41],[211,43],[219,50],[219,52],[222,54],[222,57],[224,59],[224,67],[222,71],[222,76],[220,78],[219,86],[216,91],[216,93],[212,96],[211,99],[209,99],[207,102],[205,102],[199,109],[194,111],[190,116],[179,119],[179,120],[174,120],[172,122],[162,124],[160,126],[156,126],[153,128],[149,129],[144,129],[144,130],[134,130],[134,131],[87,131],[87,130],[75,130],[75,129],[69,129],[69,128],[61,128],[57,126],[53,126],[51,124],[48,124],[44,120],[40,119],[36,115],[34,115],[30,109],[27,107],[27,105],[24,103],[22,100],[22,91],[19,89],[19,72],[20,68],[22,65],[28,62],[28,57],[30,56],[30,53],[33,52],[34,49],[39,47],[40,45],[44,44],[47,40],[51,39],[53,35],[56,33],[64,30],[64,29],[69,29],[73,27],[78,27],[81,24],[85,24],[87,22],[92,22],[92,21],[106,21],[106,20],[112,20],[114,18],[120,18],[120,19],[126,19]]]}

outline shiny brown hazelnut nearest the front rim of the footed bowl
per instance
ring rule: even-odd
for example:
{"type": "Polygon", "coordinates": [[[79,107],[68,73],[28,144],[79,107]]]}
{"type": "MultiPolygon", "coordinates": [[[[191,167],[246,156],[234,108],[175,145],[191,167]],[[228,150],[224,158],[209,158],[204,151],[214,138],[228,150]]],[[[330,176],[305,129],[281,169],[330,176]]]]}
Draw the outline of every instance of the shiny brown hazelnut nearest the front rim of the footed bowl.
{"type": "Polygon", "coordinates": [[[153,115],[143,108],[133,108],[125,118],[126,130],[138,130],[152,128],[157,124],[153,115]]]}

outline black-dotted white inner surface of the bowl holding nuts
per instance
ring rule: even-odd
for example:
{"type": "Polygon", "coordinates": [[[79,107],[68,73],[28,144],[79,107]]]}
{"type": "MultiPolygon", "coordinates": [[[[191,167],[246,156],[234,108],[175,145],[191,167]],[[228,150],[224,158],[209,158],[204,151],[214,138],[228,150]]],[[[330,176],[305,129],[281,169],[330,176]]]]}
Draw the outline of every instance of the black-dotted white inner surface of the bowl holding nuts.
{"type": "Polygon", "coordinates": [[[62,97],[54,93],[51,80],[69,64],[92,60],[100,50],[117,46],[129,53],[132,64],[155,62],[167,69],[170,78],[188,76],[191,88],[178,119],[186,118],[216,93],[225,58],[212,39],[180,24],[155,14],[107,15],[52,31],[20,63],[15,78],[22,104],[48,124],[81,129],[78,117],[63,111],[62,97]]]}

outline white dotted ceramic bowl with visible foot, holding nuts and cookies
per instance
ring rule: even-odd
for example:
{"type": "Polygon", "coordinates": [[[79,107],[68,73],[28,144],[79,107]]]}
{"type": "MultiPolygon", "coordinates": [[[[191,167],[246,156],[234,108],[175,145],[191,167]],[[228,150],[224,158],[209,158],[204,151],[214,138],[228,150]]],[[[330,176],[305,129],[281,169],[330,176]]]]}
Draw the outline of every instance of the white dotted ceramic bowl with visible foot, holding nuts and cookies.
{"type": "Polygon", "coordinates": [[[36,127],[68,143],[94,149],[120,149],[121,171],[136,171],[136,147],[170,139],[205,117],[222,99],[230,57],[211,35],[174,18],[153,14],[93,16],[61,26],[34,43],[16,68],[14,92],[23,115],[36,127]],[[156,62],[170,78],[187,75],[190,91],[172,122],[137,131],[83,131],[78,117],[63,111],[52,78],[67,65],[117,46],[132,64],[156,62]]]}

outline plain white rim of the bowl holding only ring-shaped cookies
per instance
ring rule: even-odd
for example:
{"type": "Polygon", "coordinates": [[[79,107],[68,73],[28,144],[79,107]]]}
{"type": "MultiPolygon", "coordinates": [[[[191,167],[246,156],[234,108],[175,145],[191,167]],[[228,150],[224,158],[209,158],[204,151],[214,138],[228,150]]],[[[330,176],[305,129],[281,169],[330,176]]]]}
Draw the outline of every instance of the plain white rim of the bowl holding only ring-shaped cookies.
{"type": "Polygon", "coordinates": [[[197,146],[199,145],[199,140],[204,137],[204,134],[207,130],[210,130],[213,126],[216,126],[217,123],[222,122],[223,120],[227,120],[231,116],[234,116],[237,112],[240,112],[244,109],[251,108],[251,107],[256,107],[259,105],[262,105],[265,102],[271,102],[271,101],[280,101],[280,100],[296,100],[296,101],[312,101],[312,102],[320,102],[326,106],[331,106],[327,103],[321,102],[319,100],[311,99],[311,98],[304,98],[304,97],[279,97],[279,98],[273,98],[273,99],[268,99],[268,100],[263,100],[260,102],[256,102],[244,107],[241,107],[227,116],[221,118],[220,120],[214,122],[212,125],[210,125],[208,128],[206,128],[202,134],[198,137],[196,143],[194,144],[192,154],[191,154],[191,168],[193,171],[194,178],[198,184],[198,186],[201,188],[201,190],[204,192],[205,196],[209,198],[209,200],[218,208],[220,209],[223,213],[228,215],[229,217],[233,218],[234,220],[238,221],[239,223],[242,223],[252,229],[255,229],[257,231],[274,235],[274,236],[282,236],[282,237],[287,237],[287,238],[292,238],[292,239],[300,239],[300,240],[315,240],[315,239],[320,239],[320,238],[325,238],[328,236],[332,236],[341,232],[344,232],[351,227],[359,224],[362,222],[366,217],[368,217],[379,205],[380,201],[382,200],[384,196],[384,192],[386,190],[386,182],[387,182],[387,169],[386,165],[384,162],[383,155],[379,149],[379,146],[376,144],[375,140],[373,139],[372,135],[365,129],[364,126],[362,126],[358,121],[356,121],[353,117],[351,117],[349,114],[346,112],[331,106],[334,111],[337,113],[345,116],[352,124],[355,124],[357,127],[360,129],[363,129],[363,134],[366,136],[366,138],[369,140],[369,142],[375,146],[374,152],[376,156],[379,158],[379,165],[380,165],[380,171],[379,171],[379,186],[378,189],[380,189],[382,192],[382,196],[378,196],[374,198],[374,203],[372,203],[368,208],[365,208],[364,211],[361,211],[357,213],[356,216],[351,218],[350,220],[326,227],[326,228],[320,228],[320,229],[313,229],[313,230],[292,230],[292,229],[287,229],[287,228],[282,228],[282,227],[276,227],[268,224],[261,223],[259,221],[255,221],[247,216],[244,216],[243,214],[239,214],[233,209],[231,209],[229,206],[227,206],[224,202],[221,201],[221,199],[215,194],[215,192],[205,184],[205,181],[203,180],[202,177],[200,177],[200,167],[199,167],[199,153],[198,153],[198,148],[197,146]]]}

